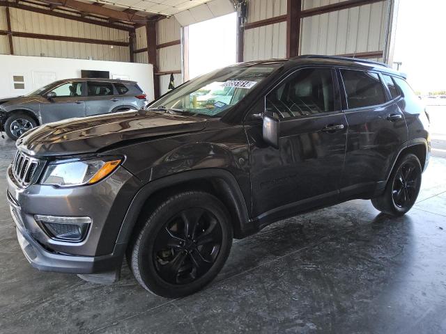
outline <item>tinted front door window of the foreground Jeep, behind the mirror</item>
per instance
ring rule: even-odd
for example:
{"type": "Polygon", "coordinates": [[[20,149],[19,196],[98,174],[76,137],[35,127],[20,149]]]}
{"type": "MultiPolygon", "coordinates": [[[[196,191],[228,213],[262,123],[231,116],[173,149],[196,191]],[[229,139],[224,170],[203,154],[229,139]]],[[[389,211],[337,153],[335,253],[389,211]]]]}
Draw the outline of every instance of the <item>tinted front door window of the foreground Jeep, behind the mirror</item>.
{"type": "Polygon", "coordinates": [[[266,97],[266,110],[282,118],[334,111],[332,70],[299,70],[266,97]]]}

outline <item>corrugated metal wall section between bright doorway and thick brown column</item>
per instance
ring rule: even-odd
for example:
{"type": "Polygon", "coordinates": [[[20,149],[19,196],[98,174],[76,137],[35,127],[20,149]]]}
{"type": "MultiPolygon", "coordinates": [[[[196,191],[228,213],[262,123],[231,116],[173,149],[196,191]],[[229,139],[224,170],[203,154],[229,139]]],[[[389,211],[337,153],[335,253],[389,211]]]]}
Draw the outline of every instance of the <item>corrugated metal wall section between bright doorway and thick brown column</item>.
{"type": "MultiPolygon", "coordinates": [[[[249,0],[247,23],[286,14],[286,0],[249,0]]],[[[244,61],[284,58],[286,22],[269,24],[245,31],[244,61]]]]}

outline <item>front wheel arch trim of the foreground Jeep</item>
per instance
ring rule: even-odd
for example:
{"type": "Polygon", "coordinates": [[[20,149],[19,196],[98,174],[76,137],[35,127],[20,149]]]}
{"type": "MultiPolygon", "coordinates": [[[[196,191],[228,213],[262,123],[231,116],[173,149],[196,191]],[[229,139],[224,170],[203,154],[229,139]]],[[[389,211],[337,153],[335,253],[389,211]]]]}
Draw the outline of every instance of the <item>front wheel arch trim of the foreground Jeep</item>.
{"type": "Polygon", "coordinates": [[[231,173],[219,168],[190,170],[162,177],[143,186],[134,196],[125,214],[117,244],[128,243],[136,234],[141,223],[139,218],[153,209],[160,201],[173,193],[187,190],[201,190],[219,198],[231,215],[234,237],[241,239],[252,234],[249,213],[240,186],[231,173]]]}

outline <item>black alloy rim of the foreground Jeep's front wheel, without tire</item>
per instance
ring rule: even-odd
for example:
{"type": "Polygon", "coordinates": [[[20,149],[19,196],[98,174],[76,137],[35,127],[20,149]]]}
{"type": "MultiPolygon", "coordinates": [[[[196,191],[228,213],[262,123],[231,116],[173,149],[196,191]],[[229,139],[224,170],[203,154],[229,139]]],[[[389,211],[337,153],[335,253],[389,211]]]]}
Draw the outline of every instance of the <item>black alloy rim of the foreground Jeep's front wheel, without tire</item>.
{"type": "Polygon", "coordinates": [[[185,209],[167,222],[153,245],[160,277],[184,285],[209,271],[222,246],[222,227],[206,209],[185,209]]]}

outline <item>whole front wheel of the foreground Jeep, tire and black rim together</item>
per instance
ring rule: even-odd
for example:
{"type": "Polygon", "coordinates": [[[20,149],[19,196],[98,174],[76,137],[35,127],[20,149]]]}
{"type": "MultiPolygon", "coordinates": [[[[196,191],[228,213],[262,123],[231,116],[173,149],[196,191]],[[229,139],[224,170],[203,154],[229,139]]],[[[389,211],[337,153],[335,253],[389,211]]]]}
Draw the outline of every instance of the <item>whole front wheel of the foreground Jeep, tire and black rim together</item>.
{"type": "Polygon", "coordinates": [[[232,238],[229,214],[220,200],[201,191],[178,193],[146,219],[132,245],[130,267],[149,292],[186,296],[217,276],[232,238]]]}

